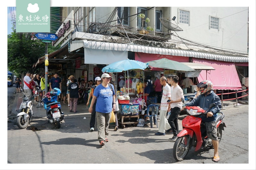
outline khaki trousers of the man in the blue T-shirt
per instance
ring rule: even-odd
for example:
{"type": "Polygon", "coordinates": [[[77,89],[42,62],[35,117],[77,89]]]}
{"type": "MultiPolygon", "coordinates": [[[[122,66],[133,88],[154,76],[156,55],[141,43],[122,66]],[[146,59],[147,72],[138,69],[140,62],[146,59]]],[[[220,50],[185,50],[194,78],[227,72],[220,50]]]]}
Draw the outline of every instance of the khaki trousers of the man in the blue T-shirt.
{"type": "Polygon", "coordinates": [[[109,126],[109,122],[110,122],[110,113],[96,112],[99,141],[102,141],[102,140],[105,141],[106,137],[108,136],[108,126],[109,126]]]}

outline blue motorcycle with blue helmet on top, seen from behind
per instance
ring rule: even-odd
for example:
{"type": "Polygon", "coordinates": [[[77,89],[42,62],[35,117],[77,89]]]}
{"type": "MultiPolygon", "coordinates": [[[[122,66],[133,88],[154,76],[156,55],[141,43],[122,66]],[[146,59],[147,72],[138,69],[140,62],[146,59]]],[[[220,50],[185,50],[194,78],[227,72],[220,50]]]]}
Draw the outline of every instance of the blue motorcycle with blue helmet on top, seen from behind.
{"type": "Polygon", "coordinates": [[[60,89],[54,88],[51,92],[47,92],[42,99],[49,122],[56,124],[57,128],[60,128],[60,122],[64,119],[64,113],[61,112],[60,102],[57,101],[60,93],[60,89]]]}

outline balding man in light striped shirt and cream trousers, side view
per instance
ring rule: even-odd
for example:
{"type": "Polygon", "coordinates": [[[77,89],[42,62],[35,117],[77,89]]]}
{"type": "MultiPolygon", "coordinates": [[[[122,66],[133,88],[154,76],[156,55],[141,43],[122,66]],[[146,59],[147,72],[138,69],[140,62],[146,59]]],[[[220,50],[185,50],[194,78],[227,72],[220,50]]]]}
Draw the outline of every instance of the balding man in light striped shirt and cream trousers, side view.
{"type": "Polygon", "coordinates": [[[163,85],[163,95],[161,99],[161,107],[160,107],[160,122],[159,122],[159,129],[155,135],[165,135],[165,129],[171,129],[167,119],[166,113],[167,110],[170,108],[170,104],[167,103],[167,100],[171,100],[171,87],[167,84],[166,77],[160,78],[160,83],[163,85]]]}

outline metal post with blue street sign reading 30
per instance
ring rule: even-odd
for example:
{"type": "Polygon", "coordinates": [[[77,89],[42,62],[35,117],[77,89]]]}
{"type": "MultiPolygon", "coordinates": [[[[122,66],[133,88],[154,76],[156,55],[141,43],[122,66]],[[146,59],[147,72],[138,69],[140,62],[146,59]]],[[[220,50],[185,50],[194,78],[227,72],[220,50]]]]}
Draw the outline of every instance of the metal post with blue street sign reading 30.
{"type": "Polygon", "coordinates": [[[45,44],[45,60],[44,60],[44,65],[45,65],[45,93],[48,92],[48,44],[50,44],[52,41],[55,41],[58,39],[58,36],[54,33],[36,33],[35,34],[36,38],[39,40],[42,40],[45,44]]]}

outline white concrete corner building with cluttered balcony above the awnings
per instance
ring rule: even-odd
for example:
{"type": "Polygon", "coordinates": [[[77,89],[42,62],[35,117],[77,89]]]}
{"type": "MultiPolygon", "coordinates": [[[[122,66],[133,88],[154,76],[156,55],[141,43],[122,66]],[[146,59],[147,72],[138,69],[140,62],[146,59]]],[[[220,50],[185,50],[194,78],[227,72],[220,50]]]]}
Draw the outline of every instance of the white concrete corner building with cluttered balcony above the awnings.
{"type": "MultiPolygon", "coordinates": [[[[60,7],[60,11],[62,25],[53,45],[61,46],[48,57],[61,64],[63,74],[90,80],[115,61],[168,58],[212,66],[215,70],[206,74],[216,89],[240,89],[240,81],[248,77],[248,7],[60,7]],[[141,33],[140,13],[150,19],[143,23],[144,29],[150,26],[154,31],[141,33]]],[[[43,62],[44,56],[37,64],[43,62]]]]}

